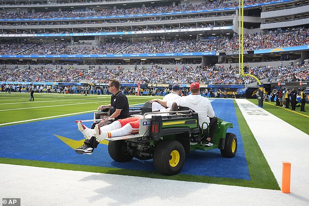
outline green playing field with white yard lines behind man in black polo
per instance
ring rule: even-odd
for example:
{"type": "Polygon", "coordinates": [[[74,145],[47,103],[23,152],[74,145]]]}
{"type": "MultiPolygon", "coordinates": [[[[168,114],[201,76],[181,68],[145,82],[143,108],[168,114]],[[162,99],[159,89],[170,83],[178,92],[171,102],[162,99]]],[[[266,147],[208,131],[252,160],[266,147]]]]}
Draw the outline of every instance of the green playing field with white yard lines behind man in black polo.
{"type": "MultiPolygon", "coordinates": [[[[111,99],[109,95],[77,94],[34,94],[34,97],[35,101],[29,101],[29,94],[0,93],[0,124],[95,111],[100,105],[110,104],[111,99]]],[[[153,97],[136,99],[135,96],[128,96],[128,99],[130,104],[134,105],[153,97]]]]}

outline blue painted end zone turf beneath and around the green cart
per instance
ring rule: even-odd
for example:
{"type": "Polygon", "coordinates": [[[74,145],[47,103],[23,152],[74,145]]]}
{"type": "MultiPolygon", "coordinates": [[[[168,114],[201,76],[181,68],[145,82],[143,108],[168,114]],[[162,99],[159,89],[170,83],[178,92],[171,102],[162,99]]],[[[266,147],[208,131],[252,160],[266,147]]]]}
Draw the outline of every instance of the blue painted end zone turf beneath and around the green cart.
{"type": "MultiPolygon", "coordinates": [[[[220,150],[193,151],[186,155],[186,162],[181,173],[250,180],[233,101],[231,99],[215,99],[212,106],[218,117],[233,123],[234,128],[229,129],[228,132],[237,136],[236,156],[224,158],[221,156],[220,150]]],[[[77,130],[77,124],[74,121],[92,118],[93,113],[88,113],[1,127],[0,133],[3,144],[1,145],[0,157],[155,171],[152,160],[134,158],[126,163],[113,161],[108,154],[107,145],[103,144],[99,144],[92,155],[77,154],[54,135],[79,141],[83,139],[83,135],[77,130]]],[[[91,123],[85,123],[85,125],[91,127],[91,123]]]]}

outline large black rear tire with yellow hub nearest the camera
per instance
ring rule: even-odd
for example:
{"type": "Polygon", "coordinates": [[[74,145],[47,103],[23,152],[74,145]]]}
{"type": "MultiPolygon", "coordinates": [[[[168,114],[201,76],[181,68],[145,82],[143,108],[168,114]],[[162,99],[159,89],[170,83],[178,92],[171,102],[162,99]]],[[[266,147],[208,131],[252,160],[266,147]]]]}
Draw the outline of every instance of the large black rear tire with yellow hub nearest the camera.
{"type": "Polygon", "coordinates": [[[155,147],[154,166],[160,174],[178,174],[185,163],[185,159],[185,149],[176,140],[163,140],[155,147]]]}

